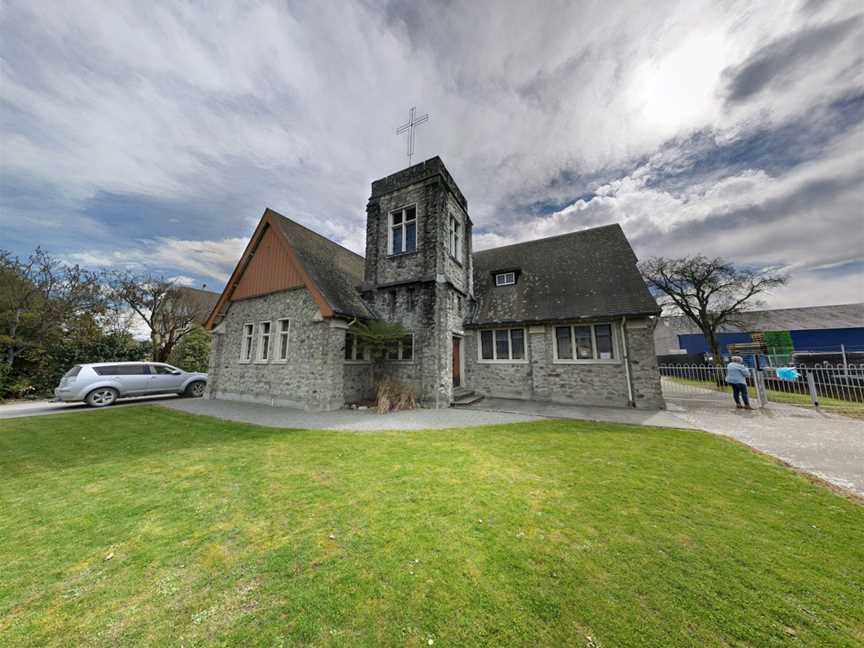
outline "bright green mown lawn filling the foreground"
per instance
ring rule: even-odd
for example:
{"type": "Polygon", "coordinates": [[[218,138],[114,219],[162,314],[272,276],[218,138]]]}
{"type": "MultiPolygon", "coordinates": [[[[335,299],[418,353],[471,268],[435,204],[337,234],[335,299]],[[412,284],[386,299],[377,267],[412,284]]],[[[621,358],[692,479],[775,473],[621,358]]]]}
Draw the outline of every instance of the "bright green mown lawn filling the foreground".
{"type": "Polygon", "coordinates": [[[0,421],[3,646],[860,646],[864,506],[699,432],[0,421]]]}

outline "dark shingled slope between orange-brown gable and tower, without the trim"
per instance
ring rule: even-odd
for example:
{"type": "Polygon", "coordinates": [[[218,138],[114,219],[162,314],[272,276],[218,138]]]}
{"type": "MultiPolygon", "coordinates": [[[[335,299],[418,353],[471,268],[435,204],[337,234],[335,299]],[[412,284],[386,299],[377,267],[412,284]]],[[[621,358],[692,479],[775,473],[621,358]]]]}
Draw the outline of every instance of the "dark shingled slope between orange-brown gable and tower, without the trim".
{"type": "Polygon", "coordinates": [[[356,288],[363,281],[363,257],[272,209],[269,211],[276,217],[275,221],[288,244],[333,312],[351,317],[372,317],[356,288]]]}

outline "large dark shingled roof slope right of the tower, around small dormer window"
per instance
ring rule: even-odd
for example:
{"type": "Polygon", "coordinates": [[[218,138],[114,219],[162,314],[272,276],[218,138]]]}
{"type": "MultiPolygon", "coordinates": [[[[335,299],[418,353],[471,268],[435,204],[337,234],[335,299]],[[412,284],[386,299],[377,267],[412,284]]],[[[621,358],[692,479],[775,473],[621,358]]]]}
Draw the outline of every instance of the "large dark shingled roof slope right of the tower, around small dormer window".
{"type": "Polygon", "coordinates": [[[617,224],[483,250],[473,260],[470,326],[660,312],[617,224]],[[495,273],[509,270],[516,284],[496,286],[495,273]]]}

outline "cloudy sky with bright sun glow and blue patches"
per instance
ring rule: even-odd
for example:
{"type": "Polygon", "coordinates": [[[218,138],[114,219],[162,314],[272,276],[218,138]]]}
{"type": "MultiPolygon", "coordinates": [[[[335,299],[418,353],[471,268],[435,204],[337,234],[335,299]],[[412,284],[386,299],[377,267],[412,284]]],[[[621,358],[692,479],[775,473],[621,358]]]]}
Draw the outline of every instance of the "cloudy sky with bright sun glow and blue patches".
{"type": "Polygon", "coordinates": [[[861,12],[0,0],[0,248],[220,289],[269,206],[362,252],[416,105],[477,248],[619,222],[864,301],[861,12]]]}

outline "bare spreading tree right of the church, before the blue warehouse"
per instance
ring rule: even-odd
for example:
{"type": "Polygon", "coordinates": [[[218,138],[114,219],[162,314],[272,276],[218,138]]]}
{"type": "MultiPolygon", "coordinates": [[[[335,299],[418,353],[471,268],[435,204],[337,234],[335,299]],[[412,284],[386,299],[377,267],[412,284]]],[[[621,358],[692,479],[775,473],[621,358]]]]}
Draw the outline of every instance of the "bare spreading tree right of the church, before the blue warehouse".
{"type": "Polygon", "coordinates": [[[722,364],[717,334],[724,325],[740,324],[741,313],[760,305],[759,296],[786,283],[771,271],[736,267],[704,256],[654,257],[639,264],[642,277],[661,306],[687,316],[705,336],[716,364],[722,364]]]}

